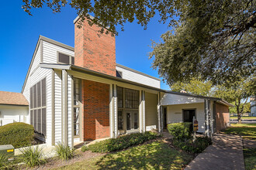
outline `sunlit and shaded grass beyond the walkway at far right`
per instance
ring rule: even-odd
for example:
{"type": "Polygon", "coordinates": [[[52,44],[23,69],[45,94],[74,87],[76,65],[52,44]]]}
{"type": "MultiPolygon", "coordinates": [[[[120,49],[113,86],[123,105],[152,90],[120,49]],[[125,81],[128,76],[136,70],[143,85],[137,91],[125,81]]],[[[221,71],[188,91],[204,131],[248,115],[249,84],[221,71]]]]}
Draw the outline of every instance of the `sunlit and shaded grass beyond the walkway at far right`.
{"type": "Polygon", "coordinates": [[[256,140],[256,124],[231,124],[231,127],[223,130],[223,133],[256,140]]]}

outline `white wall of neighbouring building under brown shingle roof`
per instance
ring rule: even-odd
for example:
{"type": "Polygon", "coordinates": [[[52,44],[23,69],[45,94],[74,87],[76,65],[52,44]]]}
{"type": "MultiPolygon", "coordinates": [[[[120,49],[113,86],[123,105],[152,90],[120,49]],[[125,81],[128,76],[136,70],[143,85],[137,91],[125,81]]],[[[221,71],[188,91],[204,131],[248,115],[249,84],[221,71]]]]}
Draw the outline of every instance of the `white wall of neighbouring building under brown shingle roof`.
{"type": "Polygon", "coordinates": [[[29,107],[0,105],[0,121],[1,125],[10,124],[14,121],[29,124],[29,107]]]}

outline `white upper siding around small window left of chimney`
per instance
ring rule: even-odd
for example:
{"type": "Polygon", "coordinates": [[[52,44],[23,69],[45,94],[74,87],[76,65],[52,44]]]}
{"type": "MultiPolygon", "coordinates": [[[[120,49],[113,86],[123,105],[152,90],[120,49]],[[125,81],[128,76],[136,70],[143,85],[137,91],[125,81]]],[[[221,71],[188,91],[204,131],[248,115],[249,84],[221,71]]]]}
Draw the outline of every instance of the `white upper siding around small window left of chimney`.
{"type": "Polygon", "coordinates": [[[43,63],[57,63],[57,52],[74,56],[74,51],[43,41],[43,63]]]}

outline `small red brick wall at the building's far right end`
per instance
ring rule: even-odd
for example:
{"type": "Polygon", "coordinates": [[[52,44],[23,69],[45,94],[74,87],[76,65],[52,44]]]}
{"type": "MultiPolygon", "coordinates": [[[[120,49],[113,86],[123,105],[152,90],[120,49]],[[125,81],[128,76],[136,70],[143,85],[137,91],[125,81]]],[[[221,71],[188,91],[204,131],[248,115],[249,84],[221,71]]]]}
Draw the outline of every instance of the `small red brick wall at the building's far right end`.
{"type": "Polygon", "coordinates": [[[216,131],[227,128],[230,122],[229,107],[216,103],[216,131]]]}

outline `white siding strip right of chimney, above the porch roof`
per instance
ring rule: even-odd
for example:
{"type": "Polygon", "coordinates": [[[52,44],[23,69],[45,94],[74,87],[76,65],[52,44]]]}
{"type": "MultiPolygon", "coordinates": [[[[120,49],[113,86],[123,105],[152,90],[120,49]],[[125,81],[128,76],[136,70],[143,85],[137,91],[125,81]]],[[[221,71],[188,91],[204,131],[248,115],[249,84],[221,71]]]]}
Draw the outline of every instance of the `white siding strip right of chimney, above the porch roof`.
{"type": "Polygon", "coordinates": [[[154,78],[151,78],[150,76],[145,76],[132,70],[127,70],[120,66],[116,66],[116,70],[122,72],[122,78],[125,80],[142,83],[150,87],[160,88],[160,80],[156,80],[154,78]]]}

